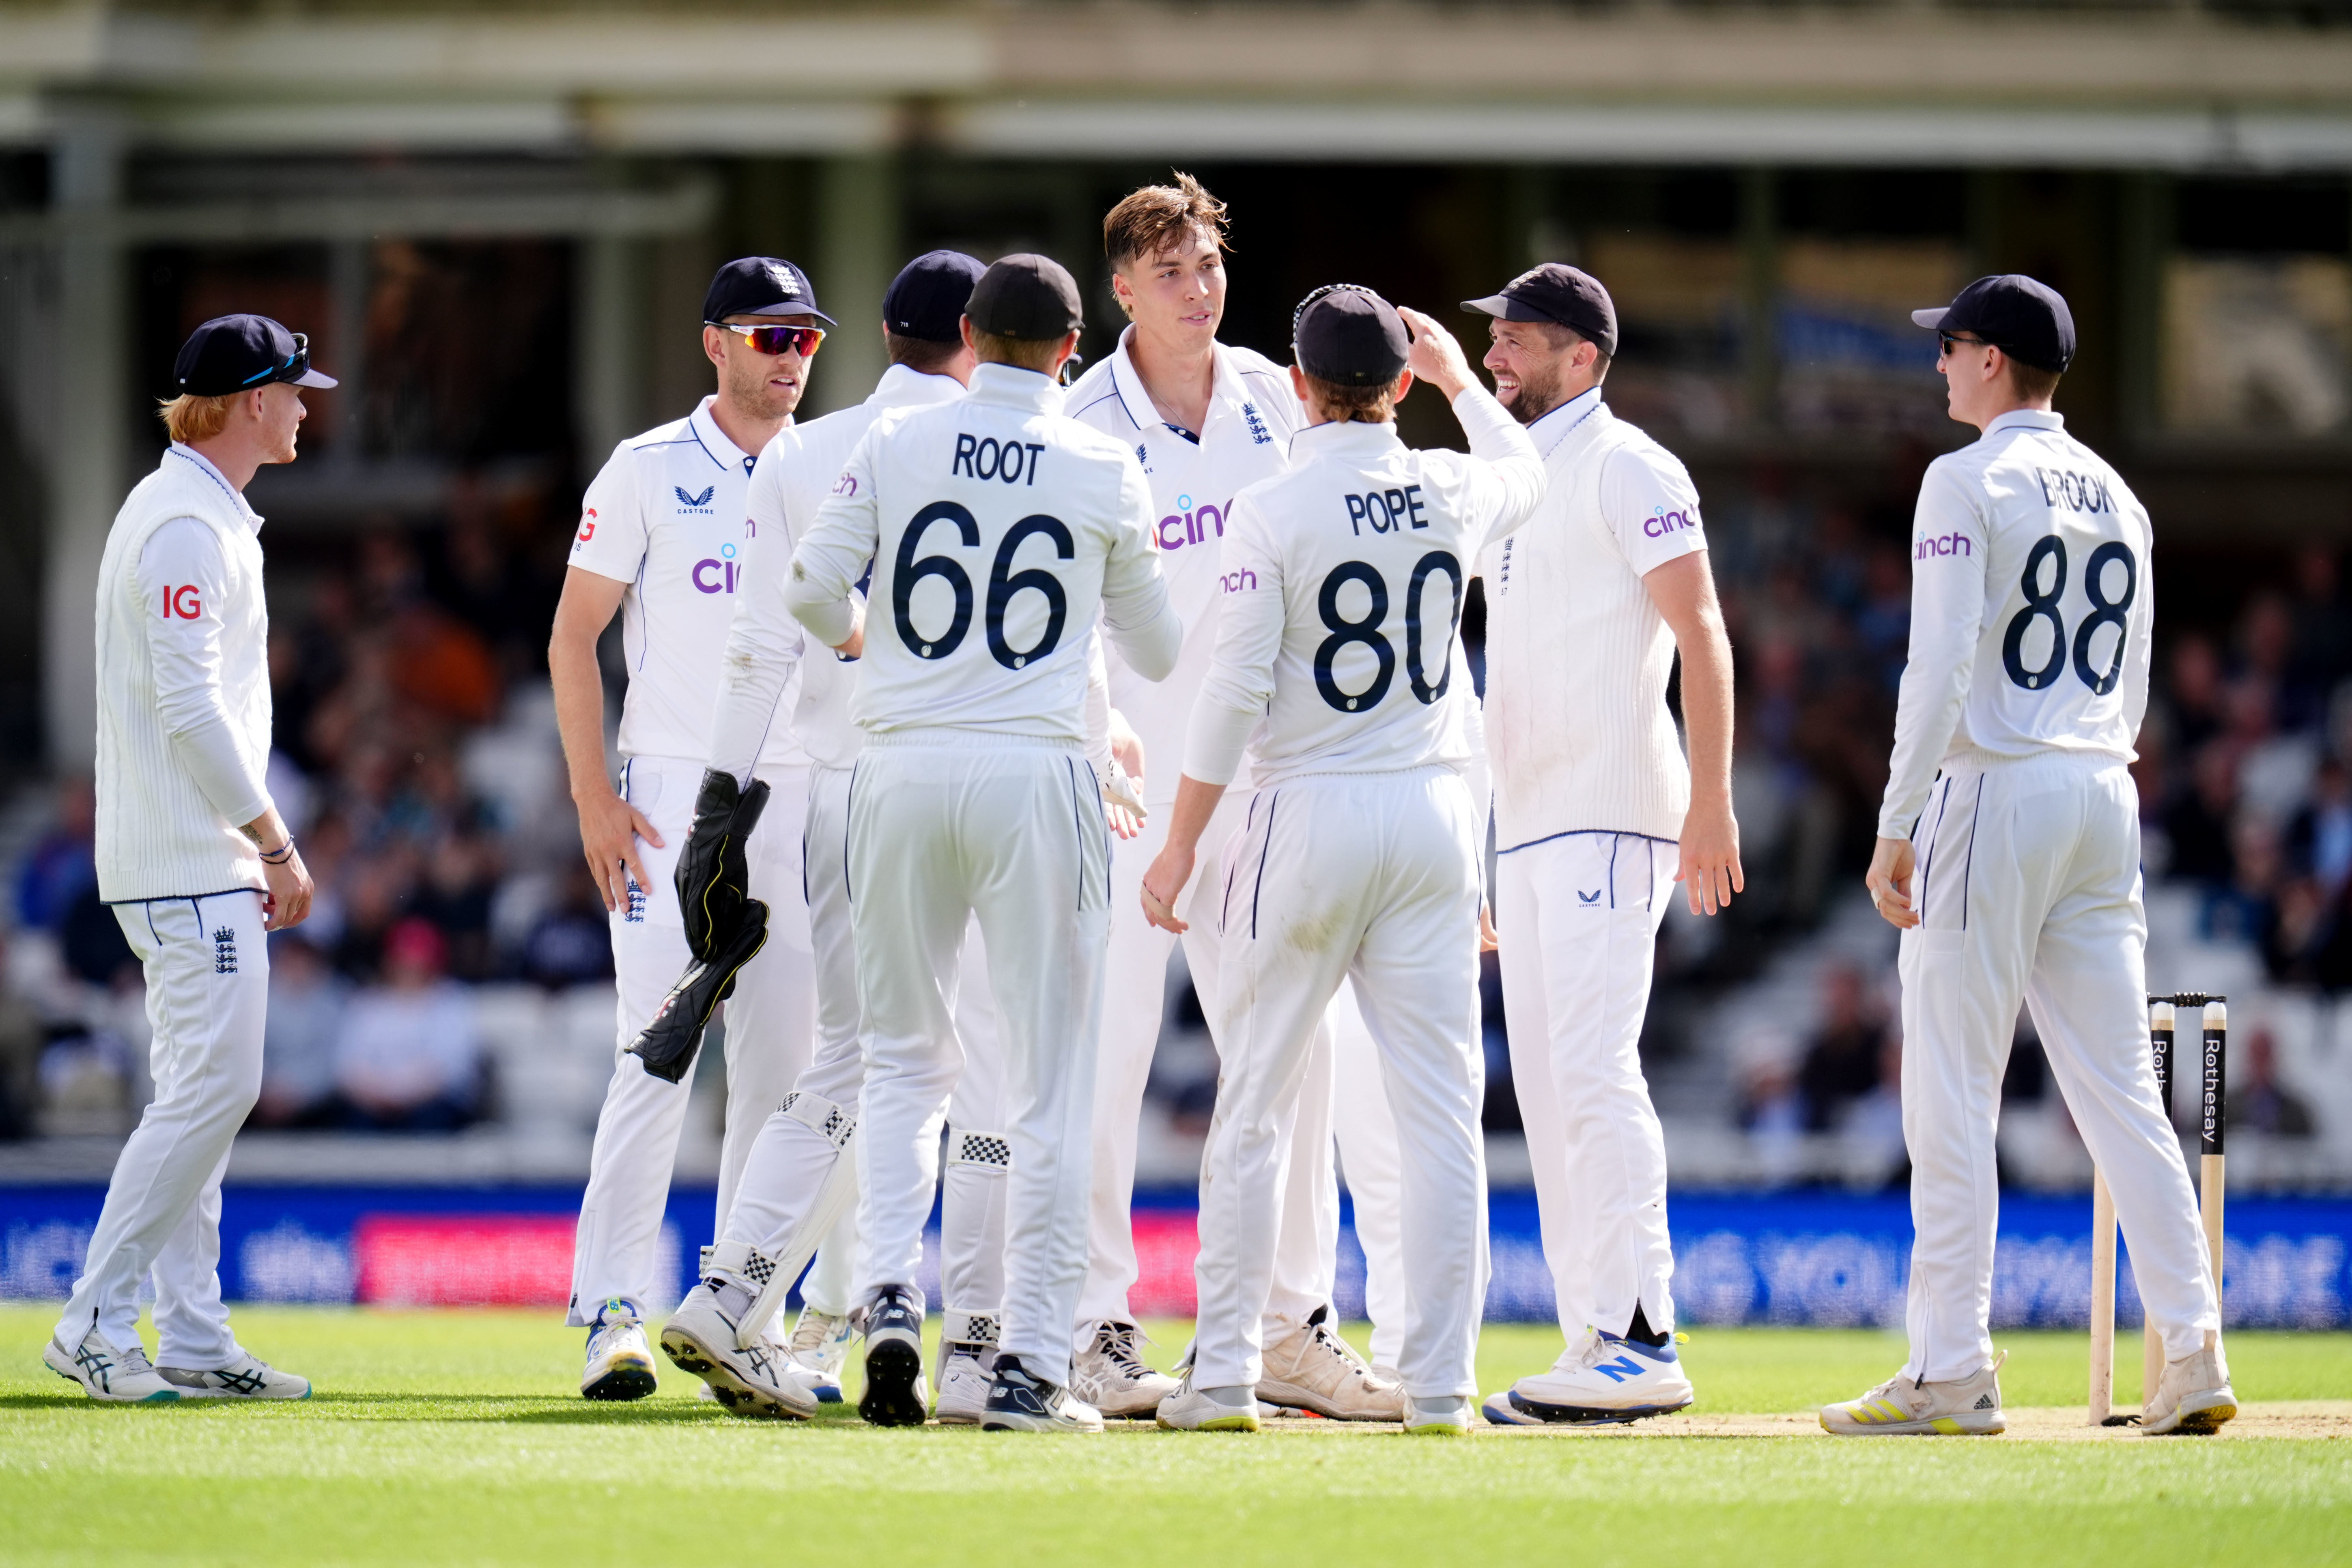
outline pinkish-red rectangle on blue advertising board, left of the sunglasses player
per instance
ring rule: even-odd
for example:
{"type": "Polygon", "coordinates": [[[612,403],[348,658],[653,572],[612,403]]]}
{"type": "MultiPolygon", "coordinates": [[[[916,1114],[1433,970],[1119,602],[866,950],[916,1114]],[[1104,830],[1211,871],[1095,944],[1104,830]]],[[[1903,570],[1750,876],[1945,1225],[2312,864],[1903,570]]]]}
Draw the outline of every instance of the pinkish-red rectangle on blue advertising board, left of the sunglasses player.
{"type": "Polygon", "coordinates": [[[562,1307],[572,1298],[569,1215],[360,1215],[358,1300],[386,1307],[562,1307]]]}

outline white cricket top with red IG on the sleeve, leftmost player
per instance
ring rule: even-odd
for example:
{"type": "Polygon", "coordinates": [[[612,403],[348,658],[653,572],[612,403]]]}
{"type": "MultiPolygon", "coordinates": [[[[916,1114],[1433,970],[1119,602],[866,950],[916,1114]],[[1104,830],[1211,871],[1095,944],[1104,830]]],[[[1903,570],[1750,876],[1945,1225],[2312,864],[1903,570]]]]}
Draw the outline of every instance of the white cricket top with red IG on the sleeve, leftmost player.
{"type": "Polygon", "coordinates": [[[99,898],[261,889],[240,832],[270,809],[270,611],[261,515],[174,444],[99,562],[99,898]]]}

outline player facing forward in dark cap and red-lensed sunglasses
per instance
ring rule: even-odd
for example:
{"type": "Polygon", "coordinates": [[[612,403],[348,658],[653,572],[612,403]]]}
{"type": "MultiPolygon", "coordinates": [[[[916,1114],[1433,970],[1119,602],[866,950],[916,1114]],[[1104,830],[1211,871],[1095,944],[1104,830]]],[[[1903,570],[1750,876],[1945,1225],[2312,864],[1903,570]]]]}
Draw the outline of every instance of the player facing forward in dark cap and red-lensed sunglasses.
{"type": "MultiPolygon", "coordinates": [[[[569,1324],[588,1328],[581,1373],[588,1399],[654,1392],[644,1316],[673,1288],[656,1279],[656,1258],[691,1081],[649,1074],[626,1046],[689,961],[673,867],[710,755],[720,656],[743,578],[746,491],[757,454],[800,407],[809,360],[830,324],[809,277],[790,261],[743,256],[717,270],[703,296],[701,329],[717,393],[687,418],[614,449],[581,501],[555,609],[548,644],[555,719],[581,816],[581,851],[612,912],[619,978],[619,1046],[572,1258],[569,1324]],[[604,776],[604,679],[595,658],[614,611],[621,611],[628,663],[619,788],[604,776]]],[[[774,792],[776,825],[748,844],[753,884],[769,903],[769,931],[727,1004],[720,1222],[734,1204],[753,1135],[809,1065],[814,1030],[797,832],[809,755],[790,726],[764,736],[755,771],[774,792]]]]}

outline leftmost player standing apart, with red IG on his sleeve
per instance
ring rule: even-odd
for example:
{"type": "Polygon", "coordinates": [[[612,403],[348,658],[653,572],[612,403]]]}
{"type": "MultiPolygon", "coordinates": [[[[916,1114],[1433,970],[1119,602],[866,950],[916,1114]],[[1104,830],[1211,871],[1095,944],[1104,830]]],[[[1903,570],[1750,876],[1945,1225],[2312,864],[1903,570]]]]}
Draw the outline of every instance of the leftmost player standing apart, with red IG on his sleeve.
{"type": "Polygon", "coordinates": [[[181,343],[172,447],[132,489],[99,564],[99,898],[146,973],[155,1098],[115,1159],[82,1276],[42,1361],[92,1399],[308,1399],[238,1345],[221,1302],[221,1173],[261,1095],[268,931],[310,912],[270,804],[261,517],[245,487],[292,463],[310,346],[263,315],[181,343]],[[139,1340],[155,1276],[162,1363],[139,1340]]]}

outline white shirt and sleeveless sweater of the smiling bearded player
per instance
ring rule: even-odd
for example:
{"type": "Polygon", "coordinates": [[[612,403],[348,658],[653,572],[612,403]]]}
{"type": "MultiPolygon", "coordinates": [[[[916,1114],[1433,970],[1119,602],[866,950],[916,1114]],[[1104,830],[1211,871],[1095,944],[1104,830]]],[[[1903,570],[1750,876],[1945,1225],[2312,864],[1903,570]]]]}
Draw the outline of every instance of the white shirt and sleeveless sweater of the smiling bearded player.
{"type": "Polygon", "coordinates": [[[1496,849],[1569,832],[1679,839],[1691,766],[1665,705],[1675,632],[1642,578],[1708,548],[1698,489],[1599,388],[1526,433],[1550,489],[1479,557],[1496,849]]]}

